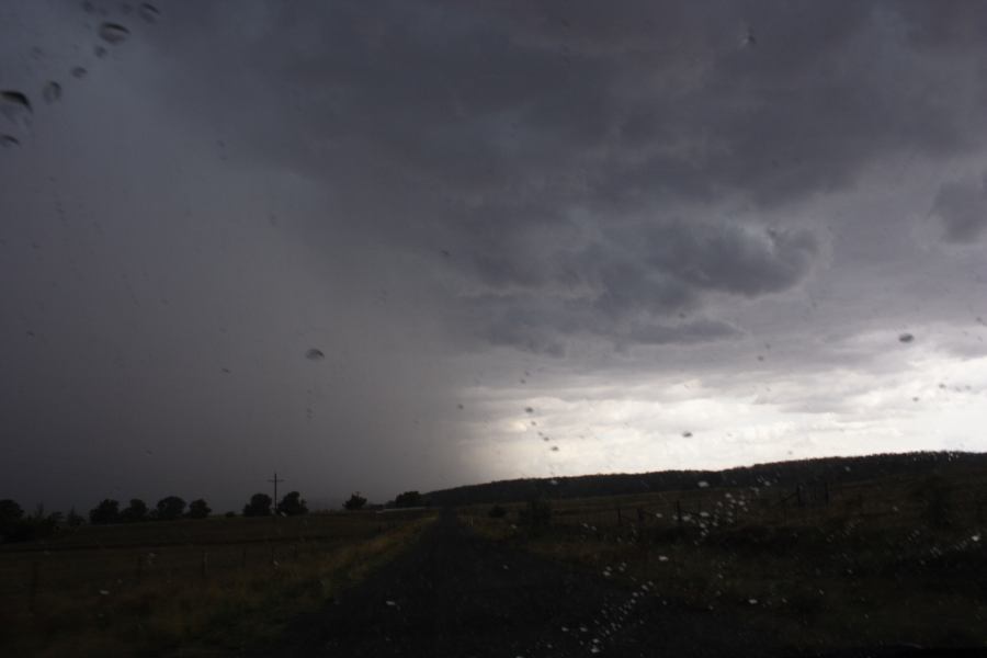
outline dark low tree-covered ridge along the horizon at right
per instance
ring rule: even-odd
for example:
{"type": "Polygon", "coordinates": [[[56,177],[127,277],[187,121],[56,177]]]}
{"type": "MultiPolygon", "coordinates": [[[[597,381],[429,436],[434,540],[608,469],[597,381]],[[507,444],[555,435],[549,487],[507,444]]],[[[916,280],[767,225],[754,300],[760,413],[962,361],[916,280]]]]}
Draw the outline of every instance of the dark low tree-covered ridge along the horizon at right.
{"type": "Polygon", "coordinates": [[[846,483],[894,475],[923,475],[940,470],[987,468],[987,453],[911,452],[854,457],[819,457],[738,466],[725,470],[657,470],[574,477],[498,480],[439,489],[427,495],[431,504],[455,506],[517,502],[536,497],[589,498],[644,491],[676,491],[711,487],[794,486],[798,483],[846,483]]]}

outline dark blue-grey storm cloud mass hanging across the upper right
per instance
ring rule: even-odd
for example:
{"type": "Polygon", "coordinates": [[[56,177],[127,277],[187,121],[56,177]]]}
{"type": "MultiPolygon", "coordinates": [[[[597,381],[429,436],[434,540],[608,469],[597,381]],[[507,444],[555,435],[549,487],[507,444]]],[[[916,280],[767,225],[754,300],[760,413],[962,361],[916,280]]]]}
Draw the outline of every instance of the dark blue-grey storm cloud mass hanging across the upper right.
{"type": "Polygon", "coordinates": [[[449,254],[430,266],[495,344],[633,340],[628,314],[796,286],[815,228],[717,208],[797,204],[984,134],[963,102],[983,80],[954,67],[968,53],[951,38],[983,20],[972,4],[942,24],[927,5],[856,2],[264,7],[241,22],[175,8],[201,70],[166,84],[200,121],[229,116],[249,157],[324,181],[359,230],[449,254]],[[252,75],[224,78],[235,61],[252,75]],[[291,116],[277,129],[272,107],[291,116]]]}

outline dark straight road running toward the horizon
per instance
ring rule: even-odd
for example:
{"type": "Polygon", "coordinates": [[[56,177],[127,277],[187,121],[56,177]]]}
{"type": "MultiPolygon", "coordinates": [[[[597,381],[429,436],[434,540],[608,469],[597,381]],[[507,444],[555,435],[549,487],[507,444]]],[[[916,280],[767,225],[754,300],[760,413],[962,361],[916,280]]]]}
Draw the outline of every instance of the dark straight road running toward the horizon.
{"type": "MultiPolygon", "coordinates": [[[[408,553],[253,655],[792,655],[757,633],[764,632],[741,627],[726,613],[665,599],[657,585],[621,586],[483,538],[445,512],[408,553]]],[[[914,654],[885,648],[828,655],[914,654]]]]}

